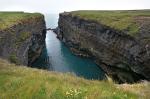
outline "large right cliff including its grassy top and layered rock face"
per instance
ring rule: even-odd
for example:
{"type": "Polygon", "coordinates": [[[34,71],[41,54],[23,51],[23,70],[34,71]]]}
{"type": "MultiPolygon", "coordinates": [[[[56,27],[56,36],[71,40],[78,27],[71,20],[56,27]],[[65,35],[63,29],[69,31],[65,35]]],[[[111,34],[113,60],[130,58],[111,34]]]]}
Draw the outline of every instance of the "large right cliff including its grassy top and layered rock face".
{"type": "Polygon", "coordinates": [[[58,37],[114,80],[150,80],[149,10],[64,12],[58,24],[58,37]]]}

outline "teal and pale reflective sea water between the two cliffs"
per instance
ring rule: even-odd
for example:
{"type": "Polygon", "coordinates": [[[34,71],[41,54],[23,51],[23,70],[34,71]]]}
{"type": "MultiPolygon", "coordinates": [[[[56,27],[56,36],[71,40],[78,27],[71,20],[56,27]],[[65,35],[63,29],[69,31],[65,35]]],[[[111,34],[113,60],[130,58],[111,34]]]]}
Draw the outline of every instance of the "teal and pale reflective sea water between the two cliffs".
{"type": "MultiPolygon", "coordinates": [[[[45,19],[47,27],[57,27],[58,15],[48,14],[45,15],[45,19]]],[[[58,72],[71,72],[87,79],[105,78],[104,72],[93,60],[73,55],[52,31],[47,32],[46,48],[33,66],[58,72]]]]}

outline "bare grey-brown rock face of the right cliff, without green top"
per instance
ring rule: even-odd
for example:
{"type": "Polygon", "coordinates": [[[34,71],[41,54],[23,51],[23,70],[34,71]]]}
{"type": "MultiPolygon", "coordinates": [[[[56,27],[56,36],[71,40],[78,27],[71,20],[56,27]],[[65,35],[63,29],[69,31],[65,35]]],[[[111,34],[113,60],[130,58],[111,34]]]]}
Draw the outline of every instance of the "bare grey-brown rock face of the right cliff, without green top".
{"type": "Polygon", "coordinates": [[[150,80],[150,42],[145,40],[150,38],[150,17],[135,19],[140,30],[131,36],[126,30],[62,13],[57,35],[77,55],[94,58],[120,83],[150,80]]]}

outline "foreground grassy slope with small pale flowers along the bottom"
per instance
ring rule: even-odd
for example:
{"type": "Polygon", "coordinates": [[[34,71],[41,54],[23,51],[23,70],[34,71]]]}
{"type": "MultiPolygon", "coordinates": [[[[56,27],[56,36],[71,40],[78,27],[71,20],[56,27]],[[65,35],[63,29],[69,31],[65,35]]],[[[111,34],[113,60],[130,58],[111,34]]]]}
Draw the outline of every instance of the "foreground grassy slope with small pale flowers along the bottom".
{"type": "Polygon", "coordinates": [[[149,93],[149,83],[115,85],[0,60],[0,99],[148,99],[149,93]]]}

